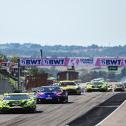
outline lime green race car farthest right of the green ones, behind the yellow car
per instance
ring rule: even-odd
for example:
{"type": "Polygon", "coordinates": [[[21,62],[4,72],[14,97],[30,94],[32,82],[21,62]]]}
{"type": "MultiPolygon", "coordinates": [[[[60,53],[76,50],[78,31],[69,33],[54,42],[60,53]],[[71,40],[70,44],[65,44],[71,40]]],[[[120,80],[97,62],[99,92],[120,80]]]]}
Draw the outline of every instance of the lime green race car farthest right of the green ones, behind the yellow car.
{"type": "Polygon", "coordinates": [[[86,91],[108,91],[109,85],[108,82],[103,78],[96,78],[91,80],[91,82],[87,83],[86,91]]]}

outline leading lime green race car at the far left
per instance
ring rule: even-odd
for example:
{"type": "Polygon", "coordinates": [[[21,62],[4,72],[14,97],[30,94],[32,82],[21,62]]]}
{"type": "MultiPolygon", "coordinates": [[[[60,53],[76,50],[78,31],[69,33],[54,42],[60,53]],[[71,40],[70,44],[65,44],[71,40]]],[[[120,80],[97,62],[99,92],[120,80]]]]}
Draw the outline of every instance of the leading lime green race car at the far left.
{"type": "Polygon", "coordinates": [[[6,93],[0,100],[0,110],[7,112],[9,110],[36,111],[36,100],[28,93],[6,93]]]}

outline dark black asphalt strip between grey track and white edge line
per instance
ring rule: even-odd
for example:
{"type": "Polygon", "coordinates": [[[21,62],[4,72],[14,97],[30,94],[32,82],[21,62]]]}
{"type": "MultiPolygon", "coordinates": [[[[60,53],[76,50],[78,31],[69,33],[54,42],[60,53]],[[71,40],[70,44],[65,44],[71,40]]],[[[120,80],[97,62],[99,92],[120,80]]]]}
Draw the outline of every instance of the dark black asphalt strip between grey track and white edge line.
{"type": "Polygon", "coordinates": [[[117,93],[105,102],[88,111],[86,114],[70,122],[69,126],[95,126],[110,115],[125,100],[126,93],[117,93]]]}

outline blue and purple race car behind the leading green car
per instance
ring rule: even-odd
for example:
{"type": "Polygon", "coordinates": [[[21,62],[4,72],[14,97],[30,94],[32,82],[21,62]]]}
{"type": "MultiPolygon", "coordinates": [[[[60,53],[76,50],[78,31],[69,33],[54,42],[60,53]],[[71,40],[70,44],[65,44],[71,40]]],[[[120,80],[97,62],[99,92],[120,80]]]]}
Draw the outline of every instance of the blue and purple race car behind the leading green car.
{"type": "Polygon", "coordinates": [[[42,86],[36,94],[37,103],[44,102],[68,102],[68,93],[59,86],[42,86]]]}

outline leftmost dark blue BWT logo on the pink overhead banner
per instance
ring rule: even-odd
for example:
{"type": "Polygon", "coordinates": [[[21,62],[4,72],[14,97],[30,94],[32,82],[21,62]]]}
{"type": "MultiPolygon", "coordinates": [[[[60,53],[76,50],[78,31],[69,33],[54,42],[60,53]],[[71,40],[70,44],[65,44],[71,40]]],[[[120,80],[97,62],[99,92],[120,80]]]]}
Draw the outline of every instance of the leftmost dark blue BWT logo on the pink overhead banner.
{"type": "Polygon", "coordinates": [[[25,59],[21,60],[21,65],[41,65],[42,61],[41,59],[25,59]]]}

